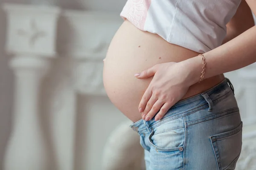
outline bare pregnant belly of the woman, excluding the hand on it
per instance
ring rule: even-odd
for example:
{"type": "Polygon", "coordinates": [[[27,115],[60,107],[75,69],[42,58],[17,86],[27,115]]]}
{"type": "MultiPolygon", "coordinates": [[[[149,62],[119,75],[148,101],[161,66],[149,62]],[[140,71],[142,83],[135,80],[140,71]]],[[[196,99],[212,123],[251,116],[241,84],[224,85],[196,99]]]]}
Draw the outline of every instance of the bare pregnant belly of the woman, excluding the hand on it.
{"type": "MultiPolygon", "coordinates": [[[[103,82],[111,102],[133,122],[141,119],[140,100],[152,78],[136,79],[134,74],[158,63],[180,62],[198,53],[170,44],[157,34],[141,31],[125,21],[116,32],[104,62],[103,82]]],[[[189,88],[183,99],[201,93],[221,82],[212,77],[189,88]]]]}

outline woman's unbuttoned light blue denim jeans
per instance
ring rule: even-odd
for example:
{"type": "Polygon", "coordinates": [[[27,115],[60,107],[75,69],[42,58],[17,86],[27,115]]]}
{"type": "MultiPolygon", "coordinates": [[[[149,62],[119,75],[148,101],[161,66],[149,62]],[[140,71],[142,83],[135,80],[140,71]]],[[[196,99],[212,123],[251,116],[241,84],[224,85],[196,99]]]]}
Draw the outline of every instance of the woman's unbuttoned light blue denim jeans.
{"type": "Polygon", "coordinates": [[[234,170],[241,152],[242,122],[228,79],[177,102],[161,120],[141,119],[131,128],[147,170],[234,170]]]}

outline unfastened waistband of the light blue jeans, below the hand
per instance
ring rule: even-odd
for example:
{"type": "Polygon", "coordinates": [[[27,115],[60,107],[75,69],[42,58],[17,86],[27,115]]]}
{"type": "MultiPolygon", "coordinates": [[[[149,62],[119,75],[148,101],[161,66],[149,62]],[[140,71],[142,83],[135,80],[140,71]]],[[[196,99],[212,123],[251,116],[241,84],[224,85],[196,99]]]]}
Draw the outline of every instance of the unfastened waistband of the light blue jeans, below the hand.
{"type": "Polygon", "coordinates": [[[150,121],[140,119],[130,125],[130,127],[138,133],[144,133],[146,130],[151,131],[151,128],[162,124],[167,121],[167,119],[169,121],[171,117],[175,119],[206,107],[209,107],[208,111],[211,111],[214,103],[220,101],[229,94],[234,94],[234,88],[230,80],[225,78],[222,82],[209,90],[177,102],[169,109],[169,111],[167,111],[161,120],[155,121],[154,117],[150,121]]]}

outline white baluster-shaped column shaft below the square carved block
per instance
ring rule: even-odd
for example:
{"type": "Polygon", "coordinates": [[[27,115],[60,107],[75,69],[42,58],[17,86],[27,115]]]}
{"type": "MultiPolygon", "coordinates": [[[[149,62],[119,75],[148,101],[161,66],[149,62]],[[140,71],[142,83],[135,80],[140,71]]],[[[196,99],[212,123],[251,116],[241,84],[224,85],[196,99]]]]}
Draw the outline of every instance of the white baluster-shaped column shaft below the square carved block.
{"type": "Polygon", "coordinates": [[[41,79],[49,61],[15,57],[10,63],[15,73],[14,125],[5,157],[5,170],[48,170],[50,161],[38,117],[41,79]]]}

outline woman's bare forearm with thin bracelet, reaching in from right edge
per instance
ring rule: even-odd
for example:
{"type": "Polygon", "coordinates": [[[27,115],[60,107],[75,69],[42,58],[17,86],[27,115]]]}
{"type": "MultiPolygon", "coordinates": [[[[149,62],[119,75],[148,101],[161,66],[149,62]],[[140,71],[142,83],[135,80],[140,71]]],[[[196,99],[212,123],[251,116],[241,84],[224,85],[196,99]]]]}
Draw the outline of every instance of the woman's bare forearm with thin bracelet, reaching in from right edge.
{"type": "MultiPolygon", "coordinates": [[[[234,71],[256,62],[256,26],[238,37],[204,54],[207,63],[204,79],[234,71]]],[[[185,62],[191,71],[191,83],[198,82],[202,71],[201,57],[185,62]]]]}

